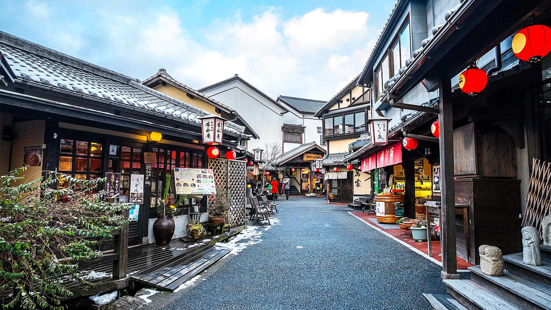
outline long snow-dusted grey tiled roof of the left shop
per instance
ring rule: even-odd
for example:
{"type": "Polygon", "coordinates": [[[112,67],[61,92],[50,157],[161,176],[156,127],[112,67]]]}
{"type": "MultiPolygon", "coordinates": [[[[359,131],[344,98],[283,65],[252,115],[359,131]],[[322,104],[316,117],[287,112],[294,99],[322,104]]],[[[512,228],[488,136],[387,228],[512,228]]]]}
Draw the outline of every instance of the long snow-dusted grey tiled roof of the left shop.
{"type": "MultiPolygon", "coordinates": [[[[146,87],[137,79],[2,31],[0,54],[5,58],[17,82],[193,125],[201,124],[197,117],[209,114],[146,87]]],[[[243,126],[232,122],[224,126],[225,131],[234,135],[239,135],[244,129],[243,126]]]]}

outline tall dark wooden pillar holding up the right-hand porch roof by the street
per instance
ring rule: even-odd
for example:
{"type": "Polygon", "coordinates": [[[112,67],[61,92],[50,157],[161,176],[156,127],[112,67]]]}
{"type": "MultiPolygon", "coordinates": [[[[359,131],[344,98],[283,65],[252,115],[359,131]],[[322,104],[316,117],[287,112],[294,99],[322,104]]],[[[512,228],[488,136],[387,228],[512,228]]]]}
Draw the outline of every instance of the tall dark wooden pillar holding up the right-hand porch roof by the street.
{"type": "Polygon", "coordinates": [[[459,279],[455,227],[455,184],[453,174],[453,107],[451,80],[439,81],[440,183],[442,190],[442,279],[459,279]]]}

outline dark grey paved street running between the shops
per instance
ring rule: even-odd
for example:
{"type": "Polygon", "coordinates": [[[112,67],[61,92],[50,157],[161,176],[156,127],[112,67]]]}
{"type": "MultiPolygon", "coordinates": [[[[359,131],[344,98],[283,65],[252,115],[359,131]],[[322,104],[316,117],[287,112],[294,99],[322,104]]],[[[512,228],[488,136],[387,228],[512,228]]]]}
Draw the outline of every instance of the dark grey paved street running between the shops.
{"type": "Polygon", "coordinates": [[[430,309],[440,266],[315,197],[280,201],[281,225],[149,309],[430,309]],[[302,247],[302,248],[298,248],[302,247]]]}

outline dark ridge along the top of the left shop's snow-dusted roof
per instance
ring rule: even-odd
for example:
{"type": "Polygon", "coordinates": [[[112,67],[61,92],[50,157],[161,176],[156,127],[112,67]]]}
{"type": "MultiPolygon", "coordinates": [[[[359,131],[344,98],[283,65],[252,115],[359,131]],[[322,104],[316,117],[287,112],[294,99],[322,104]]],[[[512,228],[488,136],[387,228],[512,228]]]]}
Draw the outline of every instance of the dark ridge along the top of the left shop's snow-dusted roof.
{"type": "Polygon", "coordinates": [[[46,57],[50,60],[63,63],[63,65],[78,68],[80,70],[98,74],[104,78],[114,79],[117,82],[128,83],[129,81],[139,82],[139,79],[126,76],[125,74],[118,73],[113,70],[109,70],[105,67],[95,65],[94,63],[82,60],[80,58],[64,54],[60,51],[50,49],[44,45],[37,44],[35,42],[19,38],[18,36],[6,33],[0,30],[0,42],[17,47],[18,49],[30,52],[31,54],[46,57]]]}

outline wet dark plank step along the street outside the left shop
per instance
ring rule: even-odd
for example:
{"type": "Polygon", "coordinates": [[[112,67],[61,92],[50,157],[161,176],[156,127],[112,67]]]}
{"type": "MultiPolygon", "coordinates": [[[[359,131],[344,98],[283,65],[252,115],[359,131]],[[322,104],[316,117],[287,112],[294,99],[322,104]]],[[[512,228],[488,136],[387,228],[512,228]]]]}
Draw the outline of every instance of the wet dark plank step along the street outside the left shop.
{"type": "Polygon", "coordinates": [[[229,252],[229,249],[218,250],[212,244],[201,245],[151,266],[130,279],[160,290],[174,291],[229,252]]]}

